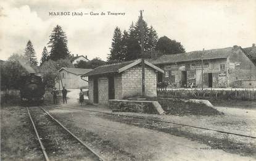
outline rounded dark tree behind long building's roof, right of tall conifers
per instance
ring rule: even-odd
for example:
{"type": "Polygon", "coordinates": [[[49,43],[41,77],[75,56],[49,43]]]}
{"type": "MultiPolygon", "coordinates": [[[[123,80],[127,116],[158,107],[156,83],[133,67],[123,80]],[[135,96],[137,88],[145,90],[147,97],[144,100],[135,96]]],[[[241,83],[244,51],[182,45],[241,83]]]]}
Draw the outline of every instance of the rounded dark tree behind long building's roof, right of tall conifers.
{"type": "Polygon", "coordinates": [[[156,47],[162,54],[178,54],[186,52],[183,45],[176,40],[171,40],[167,36],[159,38],[156,47]]]}

